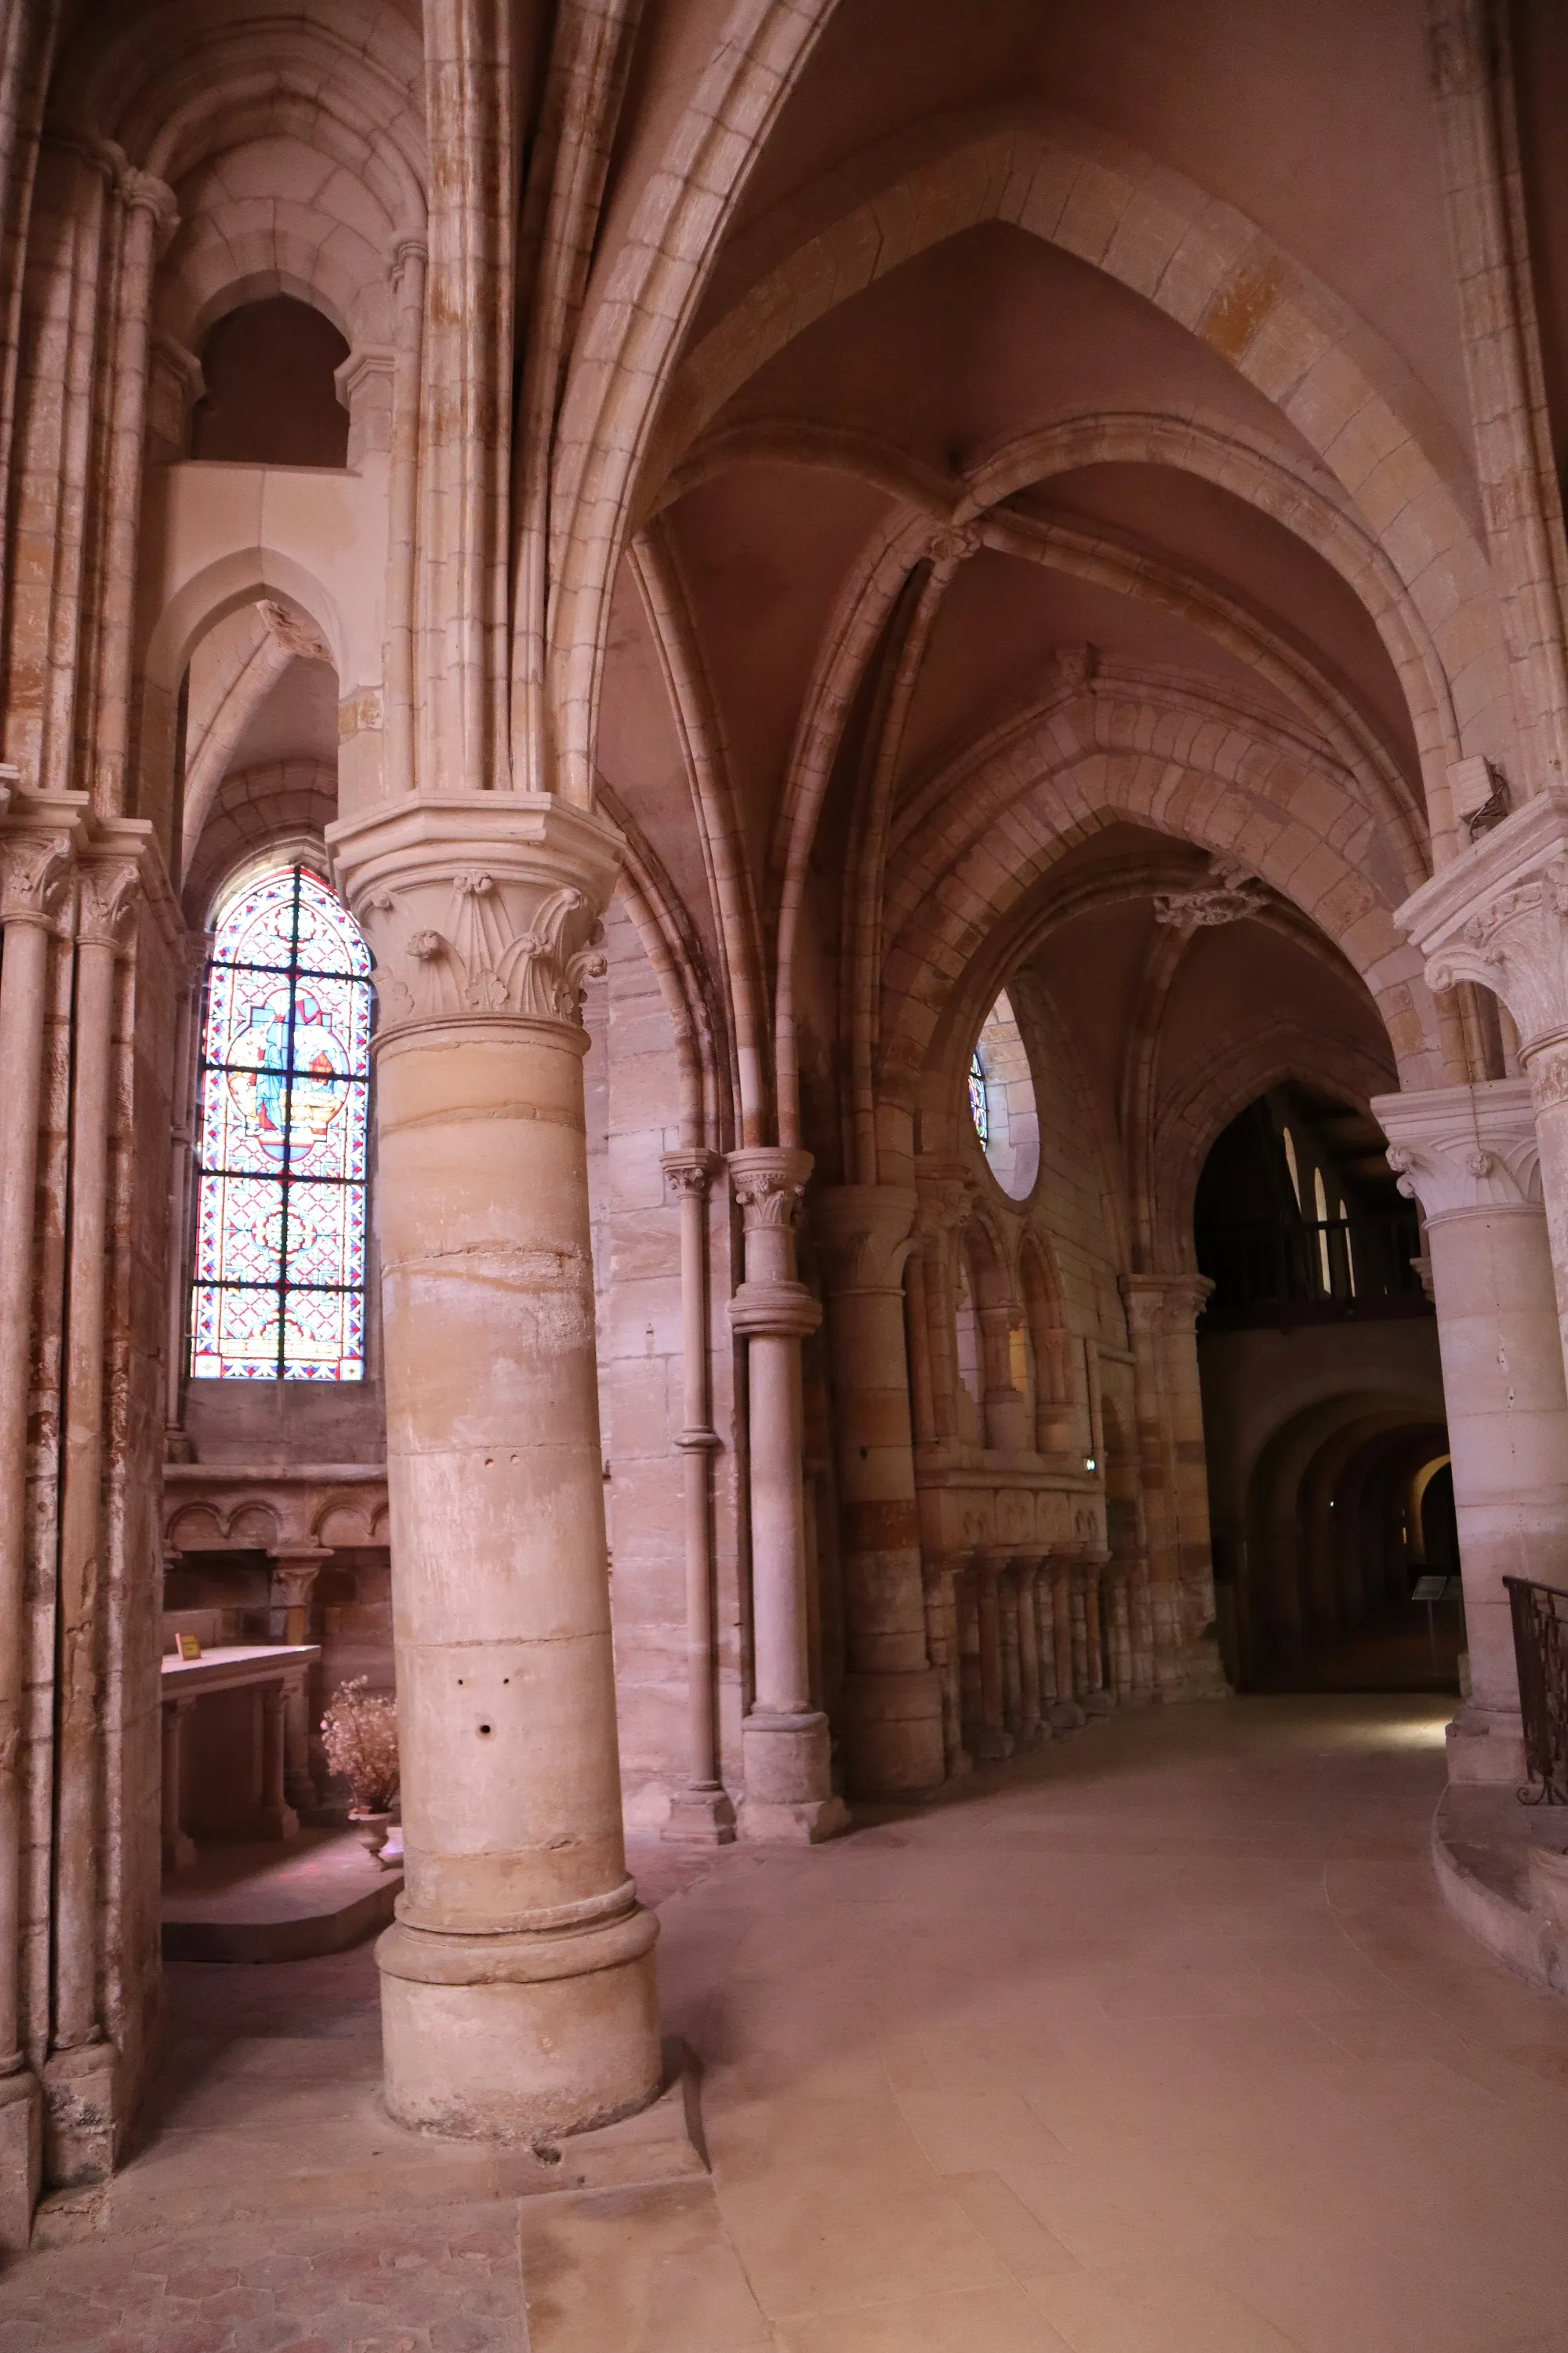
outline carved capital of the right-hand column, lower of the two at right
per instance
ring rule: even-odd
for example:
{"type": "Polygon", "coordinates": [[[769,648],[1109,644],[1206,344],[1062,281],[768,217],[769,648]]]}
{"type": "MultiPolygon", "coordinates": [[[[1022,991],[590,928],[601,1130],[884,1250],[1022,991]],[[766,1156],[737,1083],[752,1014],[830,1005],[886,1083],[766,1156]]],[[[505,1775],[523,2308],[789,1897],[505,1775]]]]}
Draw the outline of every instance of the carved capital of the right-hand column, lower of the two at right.
{"type": "Polygon", "coordinates": [[[1373,1118],[1389,1139],[1389,1167],[1429,1226],[1540,1205],[1540,1146],[1530,1085],[1495,1078],[1481,1087],[1375,1094],[1373,1118]]]}

